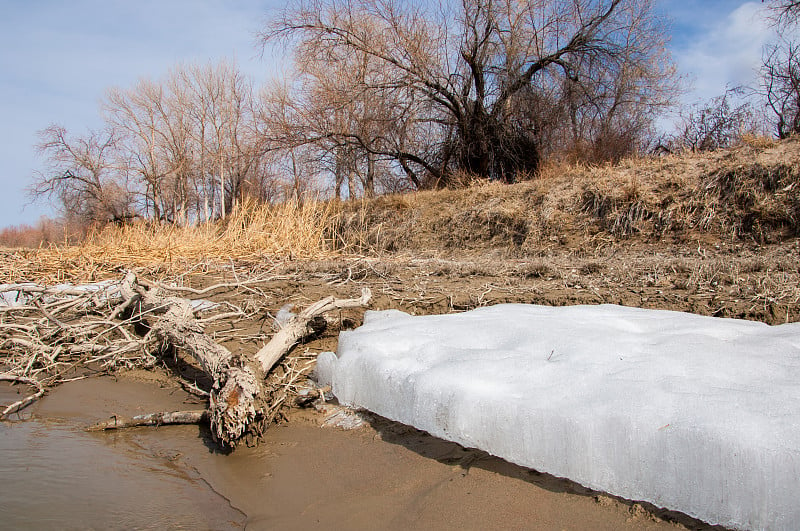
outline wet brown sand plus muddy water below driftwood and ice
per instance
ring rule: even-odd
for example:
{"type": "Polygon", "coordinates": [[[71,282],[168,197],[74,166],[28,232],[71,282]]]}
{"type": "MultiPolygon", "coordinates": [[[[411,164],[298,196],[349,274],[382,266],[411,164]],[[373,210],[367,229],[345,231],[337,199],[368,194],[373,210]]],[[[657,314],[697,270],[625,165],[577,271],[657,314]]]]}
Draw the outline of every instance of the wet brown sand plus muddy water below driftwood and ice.
{"type": "Polygon", "coordinates": [[[201,407],[169,381],[137,374],[65,384],[28,408],[28,420],[0,424],[4,525],[709,529],[383,419],[345,431],[296,411],[257,448],[229,455],[198,426],[82,431],[113,414],[201,407]]]}

